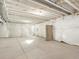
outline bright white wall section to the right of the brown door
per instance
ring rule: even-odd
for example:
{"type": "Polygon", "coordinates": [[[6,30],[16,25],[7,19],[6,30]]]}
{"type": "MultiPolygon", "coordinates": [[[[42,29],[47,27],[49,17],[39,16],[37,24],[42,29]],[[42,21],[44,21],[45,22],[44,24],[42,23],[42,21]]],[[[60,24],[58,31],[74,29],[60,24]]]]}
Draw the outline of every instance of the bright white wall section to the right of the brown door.
{"type": "Polygon", "coordinates": [[[79,16],[70,15],[59,18],[54,27],[56,40],[79,45],[79,16]]]}

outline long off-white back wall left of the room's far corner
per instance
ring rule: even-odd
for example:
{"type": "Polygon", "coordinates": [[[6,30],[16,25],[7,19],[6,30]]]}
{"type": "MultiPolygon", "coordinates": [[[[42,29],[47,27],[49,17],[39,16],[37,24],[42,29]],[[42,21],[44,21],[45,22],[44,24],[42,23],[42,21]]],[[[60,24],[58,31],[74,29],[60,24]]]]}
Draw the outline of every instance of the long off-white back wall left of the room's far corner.
{"type": "Polygon", "coordinates": [[[32,36],[30,24],[0,23],[0,37],[32,36]]]}

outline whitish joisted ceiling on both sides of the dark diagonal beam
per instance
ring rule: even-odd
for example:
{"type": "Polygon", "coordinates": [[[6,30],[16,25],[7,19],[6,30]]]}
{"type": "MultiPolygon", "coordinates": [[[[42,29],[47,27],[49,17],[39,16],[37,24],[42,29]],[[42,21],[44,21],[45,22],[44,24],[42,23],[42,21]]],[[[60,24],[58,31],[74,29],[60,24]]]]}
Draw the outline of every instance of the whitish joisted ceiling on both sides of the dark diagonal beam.
{"type": "MultiPolygon", "coordinates": [[[[57,2],[59,0],[52,1],[57,2]]],[[[57,5],[70,13],[75,12],[75,9],[66,2],[57,3],[57,5]]],[[[5,0],[5,7],[8,16],[7,21],[11,22],[40,23],[63,15],[58,10],[32,0],[5,0]]]]}

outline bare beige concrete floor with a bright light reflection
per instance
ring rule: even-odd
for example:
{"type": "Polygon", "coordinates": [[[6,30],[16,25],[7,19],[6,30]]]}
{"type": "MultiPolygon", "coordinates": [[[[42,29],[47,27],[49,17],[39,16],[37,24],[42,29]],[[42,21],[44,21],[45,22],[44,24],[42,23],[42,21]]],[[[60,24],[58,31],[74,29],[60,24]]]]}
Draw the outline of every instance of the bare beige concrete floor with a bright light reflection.
{"type": "Polygon", "coordinates": [[[0,59],[79,59],[79,47],[40,38],[0,38],[0,59]]]}

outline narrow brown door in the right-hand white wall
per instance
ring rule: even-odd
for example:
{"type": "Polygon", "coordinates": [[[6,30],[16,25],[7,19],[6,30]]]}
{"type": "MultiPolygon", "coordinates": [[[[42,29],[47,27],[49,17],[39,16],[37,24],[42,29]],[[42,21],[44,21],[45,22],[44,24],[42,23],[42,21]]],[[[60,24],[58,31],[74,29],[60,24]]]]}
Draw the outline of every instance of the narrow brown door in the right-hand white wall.
{"type": "Polygon", "coordinates": [[[51,41],[53,40],[53,27],[52,25],[46,25],[46,40],[51,41]]]}

